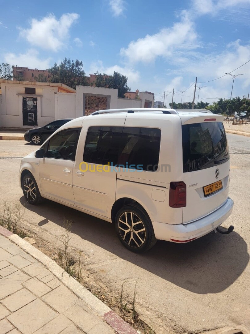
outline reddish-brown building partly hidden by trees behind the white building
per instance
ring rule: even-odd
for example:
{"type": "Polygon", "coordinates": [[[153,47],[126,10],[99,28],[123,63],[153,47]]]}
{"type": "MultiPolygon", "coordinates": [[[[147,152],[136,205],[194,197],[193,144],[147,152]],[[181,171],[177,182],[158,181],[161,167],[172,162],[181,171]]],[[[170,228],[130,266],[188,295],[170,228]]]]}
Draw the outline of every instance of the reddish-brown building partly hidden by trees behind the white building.
{"type": "MultiPolygon", "coordinates": [[[[109,77],[110,75],[103,75],[104,78],[109,77]]],[[[90,85],[95,81],[97,74],[90,74],[86,76],[86,81],[90,85]]],[[[19,67],[13,66],[13,80],[19,81],[50,81],[50,73],[48,69],[30,69],[29,67],[19,67]]]]}

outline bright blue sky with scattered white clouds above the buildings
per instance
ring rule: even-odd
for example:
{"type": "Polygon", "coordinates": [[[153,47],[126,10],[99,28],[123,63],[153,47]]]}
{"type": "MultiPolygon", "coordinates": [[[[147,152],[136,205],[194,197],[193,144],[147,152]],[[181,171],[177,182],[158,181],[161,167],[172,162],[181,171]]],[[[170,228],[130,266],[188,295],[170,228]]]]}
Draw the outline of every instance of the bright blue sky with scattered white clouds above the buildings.
{"type": "MultiPolygon", "coordinates": [[[[250,60],[250,0],[1,1],[0,62],[46,69],[65,56],[96,70],[127,75],[131,90],[151,91],[167,104],[229,98],[230,72],[250,60]],[[1,4],[2,3],[2,4],[1,4]],[[198,91],[196,99],[198,98],[198,91]]],[[[250,62],[232,74],[233,96],[250,90],[250,62]]]]}

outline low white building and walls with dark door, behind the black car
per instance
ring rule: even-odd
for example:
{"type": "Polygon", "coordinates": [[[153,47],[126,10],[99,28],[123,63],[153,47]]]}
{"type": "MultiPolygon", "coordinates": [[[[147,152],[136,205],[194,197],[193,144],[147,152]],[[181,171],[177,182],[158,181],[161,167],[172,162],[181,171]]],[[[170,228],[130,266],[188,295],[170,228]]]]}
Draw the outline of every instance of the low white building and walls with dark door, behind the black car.
{"type": "Polygon", "coordinates": [[[55,119],[76,118],[96,110],[150,108],[154,95],[140,92],[140,99],[118,98],[118,90],[62,83],[0,79],[0,127],[28,129],[55,119]]]}

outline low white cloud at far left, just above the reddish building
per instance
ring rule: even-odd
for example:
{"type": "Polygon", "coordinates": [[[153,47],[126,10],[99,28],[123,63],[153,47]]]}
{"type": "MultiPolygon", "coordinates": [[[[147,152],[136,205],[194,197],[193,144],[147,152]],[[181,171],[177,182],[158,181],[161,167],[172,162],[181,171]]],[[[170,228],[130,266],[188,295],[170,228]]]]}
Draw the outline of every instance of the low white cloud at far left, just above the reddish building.
{"type": "Polygon", "coordinates": [[[4,60],[11,64],[22,67],[47,69],[50,67],[51,58],[40,59],[37,50],[29,49],[26,53],[6,53],[4,60]]]}

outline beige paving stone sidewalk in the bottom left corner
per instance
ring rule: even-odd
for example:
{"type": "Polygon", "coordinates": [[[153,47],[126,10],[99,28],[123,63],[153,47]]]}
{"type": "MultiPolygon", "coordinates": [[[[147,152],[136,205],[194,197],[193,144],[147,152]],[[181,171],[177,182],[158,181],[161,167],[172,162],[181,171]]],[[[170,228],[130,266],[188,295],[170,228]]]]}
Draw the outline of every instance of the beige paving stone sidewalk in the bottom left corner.
{"type": "Polygon", "coordinates": [[[0,334],[114,334],[40,262],[0,235],[0,334]]]}

